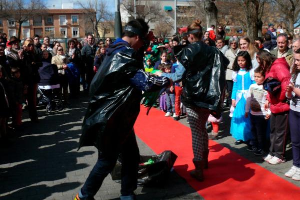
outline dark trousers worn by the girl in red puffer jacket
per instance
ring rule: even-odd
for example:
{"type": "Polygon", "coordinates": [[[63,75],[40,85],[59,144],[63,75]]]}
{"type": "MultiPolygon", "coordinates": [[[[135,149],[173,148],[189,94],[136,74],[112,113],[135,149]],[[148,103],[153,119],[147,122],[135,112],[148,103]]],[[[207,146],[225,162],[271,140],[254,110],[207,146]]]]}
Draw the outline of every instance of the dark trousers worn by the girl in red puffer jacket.
{"type": "Polygon", "coordinates": [[[269,154],[280,159],[284,157],[286,136],[289,133],[288,112],[271,113],[269,154]]]}

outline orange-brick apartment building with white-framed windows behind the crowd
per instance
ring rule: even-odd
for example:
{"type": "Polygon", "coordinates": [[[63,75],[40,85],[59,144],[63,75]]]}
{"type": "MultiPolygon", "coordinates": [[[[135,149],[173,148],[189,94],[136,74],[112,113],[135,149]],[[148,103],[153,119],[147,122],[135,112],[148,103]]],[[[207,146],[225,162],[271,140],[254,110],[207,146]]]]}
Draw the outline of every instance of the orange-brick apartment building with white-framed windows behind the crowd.
{"type": "MultiPolygon", "coordinates": [[[[38,35],[55,38],[80,38],[92,33],[92,25],[83,9],[46,9],[21,24],[20,39],[38,35]]],[[[92,15],[91,11],[91,15],[92,15]]],[[[17,36],[19,24],[13,20],[0,19],[0,32],[7,37],[17,36]]]]}

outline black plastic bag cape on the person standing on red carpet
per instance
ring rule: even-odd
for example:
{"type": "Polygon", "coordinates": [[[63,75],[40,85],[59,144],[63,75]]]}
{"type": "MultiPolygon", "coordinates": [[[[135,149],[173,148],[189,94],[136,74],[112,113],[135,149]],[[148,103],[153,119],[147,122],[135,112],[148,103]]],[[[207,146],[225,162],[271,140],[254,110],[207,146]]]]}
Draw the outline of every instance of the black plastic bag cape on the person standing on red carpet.
{"type": "Polygon", "coordinates": [[[173,51],[186,69],[182,79],[182,103],[188,108],[208,108],[219,118],[226,90],[228,59],[217,48],[203,42],[176,46],[173,51]]]}

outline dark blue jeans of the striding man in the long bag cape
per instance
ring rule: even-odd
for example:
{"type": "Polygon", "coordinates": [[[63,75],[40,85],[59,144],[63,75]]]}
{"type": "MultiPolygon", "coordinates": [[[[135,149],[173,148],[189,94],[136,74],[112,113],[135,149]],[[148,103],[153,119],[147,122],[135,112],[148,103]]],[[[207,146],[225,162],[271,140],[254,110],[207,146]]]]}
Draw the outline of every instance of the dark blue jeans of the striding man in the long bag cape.
{"type": "Polygon", "coordinates": [[[133,191],[137,187],[139,150],[133,130],[122,144],[119,153],[120,154],[103,155],[98,151],[98,160],[80,189],[80,193],[83,197],[93,197],[97,193],[104,178],[114,168],[118,156],[120,156],[122,160],[121,195],[128,196],[134,194],[133,191]]]}

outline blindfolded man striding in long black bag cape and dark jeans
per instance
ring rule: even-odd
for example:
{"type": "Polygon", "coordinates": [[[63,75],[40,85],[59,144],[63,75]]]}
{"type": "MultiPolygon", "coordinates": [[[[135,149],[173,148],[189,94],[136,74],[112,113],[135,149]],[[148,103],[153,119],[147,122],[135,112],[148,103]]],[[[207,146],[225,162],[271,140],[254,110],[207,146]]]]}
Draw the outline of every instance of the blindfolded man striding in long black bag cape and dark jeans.
{"type": "Polygon", "coordinates": [[[75,200],[93,199],[119,154],[122,159],[120,198],[135,199],[139,150],[133,125],[140,109],[141,90],[161,91],[172,82],[165,77],[150,76],[143,70],[142,53],[148,47],[148,28],[141,19],[128,22],[122,38],[109,44],[91,82],[79,148],[94,145],[98,160],[75,200]]]}

